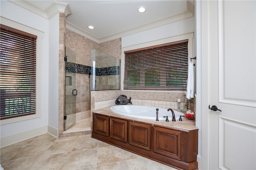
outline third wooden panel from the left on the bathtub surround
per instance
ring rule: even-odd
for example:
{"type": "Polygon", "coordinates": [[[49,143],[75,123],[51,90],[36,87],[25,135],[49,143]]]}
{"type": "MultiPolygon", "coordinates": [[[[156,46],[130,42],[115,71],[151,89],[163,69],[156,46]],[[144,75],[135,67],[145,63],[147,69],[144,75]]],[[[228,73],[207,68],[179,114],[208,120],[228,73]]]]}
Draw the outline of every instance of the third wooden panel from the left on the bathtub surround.
{"type": "Polygon", "coordinates": [[[129,122],[129,144],[150,150],[150,125],[129,122]]]}

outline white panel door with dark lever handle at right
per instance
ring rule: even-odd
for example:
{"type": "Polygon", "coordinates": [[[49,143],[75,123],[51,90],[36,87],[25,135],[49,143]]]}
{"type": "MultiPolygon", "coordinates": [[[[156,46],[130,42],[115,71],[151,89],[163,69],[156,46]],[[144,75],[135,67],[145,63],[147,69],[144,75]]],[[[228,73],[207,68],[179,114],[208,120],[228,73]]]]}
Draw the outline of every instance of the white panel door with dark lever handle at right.
{"type": "Polygon", "coordinates": [[[255,170],[256,1],[207,3],[210,169],[255,170]]]}

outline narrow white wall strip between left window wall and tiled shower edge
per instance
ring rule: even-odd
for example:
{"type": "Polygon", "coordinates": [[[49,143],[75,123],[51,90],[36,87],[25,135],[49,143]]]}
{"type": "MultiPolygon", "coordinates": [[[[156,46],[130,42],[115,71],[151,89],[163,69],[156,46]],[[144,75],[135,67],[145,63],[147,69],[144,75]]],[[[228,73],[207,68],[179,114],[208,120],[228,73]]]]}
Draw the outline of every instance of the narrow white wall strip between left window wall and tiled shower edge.
{"type": "MultiPolygon", "coordinates": [[[[58,130],[59,14],[49,20],[49,126],[58,130]]],[[[64,60],[64,59],[63,59],[64,60]]],[[[56,131],[55,131],[56,133],[56,131]]],[[[55,136],[58,136],[58,131],[55,136]]]]}

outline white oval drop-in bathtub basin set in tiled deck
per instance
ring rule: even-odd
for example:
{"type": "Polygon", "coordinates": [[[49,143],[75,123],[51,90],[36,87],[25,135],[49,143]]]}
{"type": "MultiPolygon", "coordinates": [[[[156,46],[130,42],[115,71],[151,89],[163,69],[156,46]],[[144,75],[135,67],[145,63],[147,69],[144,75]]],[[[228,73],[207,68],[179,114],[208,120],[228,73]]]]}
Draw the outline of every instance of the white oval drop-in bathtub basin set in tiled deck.
{"type": "MultiPolygon", "coordinates": [[[[156,120],[156,108],[157,107],[149,107],[149,106],[136,106],[136,105],[116,105],[111,106],[110,110],[114,113],[136,117],[142,119],[155,119],[156,120]]],[[[167,109],[158,108],[158,119],[166,120],[165,117],[168,115],[169,121],[172,121],[172,111],[167,111],[167,109]]],[[[183,113],[174,110],[175,119],[178,121],[180,119],[180,115],[184,116],[183,113]]],[[[183,117],[182,117],[183,118],[183,117]]]]}

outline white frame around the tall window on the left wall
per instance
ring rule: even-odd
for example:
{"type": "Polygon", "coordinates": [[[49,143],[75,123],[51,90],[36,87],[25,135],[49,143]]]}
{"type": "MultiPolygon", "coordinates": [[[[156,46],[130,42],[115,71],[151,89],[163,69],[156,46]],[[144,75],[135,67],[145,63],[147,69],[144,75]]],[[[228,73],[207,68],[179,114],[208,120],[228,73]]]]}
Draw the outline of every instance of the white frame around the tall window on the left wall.
{"type": "Polygon", "coordinates": [[[17,23],[15,21],[9,20],[4,17],[0,17],[1,24],[6,25],[8,27],[12,27],[14,29],[18,29],[20,31],[36,35],[37,36],[37,43],[36,43],[36,113],[25,115],[25,116],[18,116],[18,117],[12,117],[8,119],[1,119],[0,123],[1,125],[9,124],[9,123],[15,123],[19,121],[25,121],[29,119],[34,119],[41,117],[41,73],[42,73],[42,37],[43,32],[37,29],[34,29],[32,27],[28,27],[26,25],[17,23]]]}

